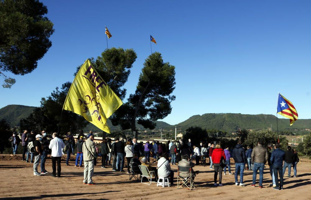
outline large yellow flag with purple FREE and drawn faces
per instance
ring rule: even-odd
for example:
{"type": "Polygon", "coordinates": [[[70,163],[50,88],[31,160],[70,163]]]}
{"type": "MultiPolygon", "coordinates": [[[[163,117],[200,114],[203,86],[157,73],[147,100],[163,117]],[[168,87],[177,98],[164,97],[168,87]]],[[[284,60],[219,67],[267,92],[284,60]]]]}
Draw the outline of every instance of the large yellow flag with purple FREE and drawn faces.
{"type": "Polygon", "coordinates": [[[110,133],[107,119],[122,104],[87,59],[70,86],[63,109],[83,116],[96,127],[110,133]]]}

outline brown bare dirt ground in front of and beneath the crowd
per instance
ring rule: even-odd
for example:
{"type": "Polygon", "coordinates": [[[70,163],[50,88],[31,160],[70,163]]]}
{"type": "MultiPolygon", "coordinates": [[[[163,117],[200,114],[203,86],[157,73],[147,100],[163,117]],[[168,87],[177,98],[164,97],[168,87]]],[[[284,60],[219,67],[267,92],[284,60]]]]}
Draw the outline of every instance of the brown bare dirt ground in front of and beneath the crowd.
{"type": "MultiPolygon", "coordinates": [[[[73,159],[70,166],[62,160],[61,178],[51,177],[50,174],[34,176],[33,164],[20,159],[20,155],[0,155],[0,199],[311,199],[310,162],[297,165],[297,178],[287,178],[286,170],[284,190],[269,187],[272,180],[268,165],[265,166],[262,189],[259,189],[258,181],[257,187],[250,186],[253,173],[248,171],[244,171],[245,187],[236,186],[234,175],[228,175],[228,172],[222,178],[224,186],[214,186],[214,170],[210,170],[209,166],[196,166],[194,170],[200,171],[195,178],[197,188],[190,191],[177,189],[176,186],[162,188],[157,187],[156,183],[146,185],[130,181],[127,172],[113,172],[111,167],[103,169],[100,165],[95,166],[94,170],[93,181],[96,185],[85,185],[82,184],[84,168],[74,167],[73,159]]],[[[171,167],[176,183],[177,166],[171,167]]],[[[47,159],[45,168],[52,172],[50,159],[47,159]]],[[[231,170],[234,172],[233,164],[231,170]]],[[[293,175],[293,169],[291,171],[293,175]]]]}

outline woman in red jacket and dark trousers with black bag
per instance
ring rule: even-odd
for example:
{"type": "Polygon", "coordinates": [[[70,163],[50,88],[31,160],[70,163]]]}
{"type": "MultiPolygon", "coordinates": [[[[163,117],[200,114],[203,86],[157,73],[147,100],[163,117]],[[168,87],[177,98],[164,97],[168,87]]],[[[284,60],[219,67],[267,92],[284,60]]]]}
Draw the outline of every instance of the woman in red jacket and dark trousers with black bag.
{"type": "Polygon", "coordinates": [[[212,153],[212,160],[214,163],[214,170],[215,170],[215,174],[214,174],[214,182],[215,183],[214,183],[214,185],[217,185],[217,174],[219,172],[219,186],[222,186],[221,179],[222,179],[223,168],[219,164],[222,156],[224,157],[224,160],[226,160],[224,150],[221,148],[220,144],[216,144],[216,147],[212,153]]]}

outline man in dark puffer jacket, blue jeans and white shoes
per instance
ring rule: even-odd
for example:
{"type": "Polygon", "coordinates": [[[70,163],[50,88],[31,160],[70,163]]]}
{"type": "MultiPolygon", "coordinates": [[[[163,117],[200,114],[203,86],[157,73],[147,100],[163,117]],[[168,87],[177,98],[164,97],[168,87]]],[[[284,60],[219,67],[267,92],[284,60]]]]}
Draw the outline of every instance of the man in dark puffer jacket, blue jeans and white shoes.
{"type": "Polygon", "coordinates": [[[239,140],[238,144],[233,149],[233,159],[235,162],[235,185],[239,185],[238,183],[238,172],[240,171],[240,186],[245,186],[243,183],[243,174],[244,174],[244,167],[245,167],[245,150],[242,147],[242,141],[239,140]]]}

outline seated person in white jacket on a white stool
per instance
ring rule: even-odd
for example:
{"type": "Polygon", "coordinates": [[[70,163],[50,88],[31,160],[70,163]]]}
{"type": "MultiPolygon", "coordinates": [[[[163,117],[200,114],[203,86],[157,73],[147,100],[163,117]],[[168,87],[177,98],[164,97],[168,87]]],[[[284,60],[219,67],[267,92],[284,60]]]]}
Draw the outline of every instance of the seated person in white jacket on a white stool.
{"type": "Polygon", "coordinates": [[[158,160],[158,175],[161,177],[168,177],[170,179],[170,185],[174,185],[174,172],[169,165],[169,159],[166,153],[159,154],[158,160]]]}

